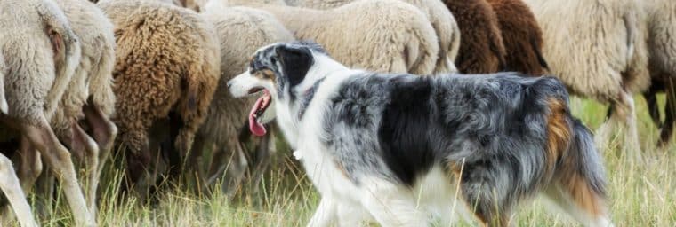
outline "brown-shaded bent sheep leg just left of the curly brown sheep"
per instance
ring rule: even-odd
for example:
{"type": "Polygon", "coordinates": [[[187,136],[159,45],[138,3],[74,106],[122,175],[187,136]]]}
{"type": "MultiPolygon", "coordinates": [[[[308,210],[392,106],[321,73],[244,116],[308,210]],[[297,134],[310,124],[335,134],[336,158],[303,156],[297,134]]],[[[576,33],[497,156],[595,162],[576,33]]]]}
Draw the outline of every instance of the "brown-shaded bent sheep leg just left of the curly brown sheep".
{"type": "Polygon", "coordinates": [[[84,105],[83,112],[84,119],[92,127],[93,138],[99,145],[99,167],[96,175],[101,176],[103,166],[108,160],[115,143],[115,137],[117,137],[117,127],[106,114],[103,114],[101,108],[91,105],[91,103],[90,99],[90,102],[84,105]]]}

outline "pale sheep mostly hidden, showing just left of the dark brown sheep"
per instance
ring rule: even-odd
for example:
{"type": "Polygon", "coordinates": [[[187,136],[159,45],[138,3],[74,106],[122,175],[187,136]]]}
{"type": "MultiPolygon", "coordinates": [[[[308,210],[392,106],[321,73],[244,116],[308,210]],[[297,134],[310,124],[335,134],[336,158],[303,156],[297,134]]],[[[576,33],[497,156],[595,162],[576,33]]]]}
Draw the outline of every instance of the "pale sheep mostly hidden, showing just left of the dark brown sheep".
{"type": "MultiPolygon", "coordinates": [[[[308,7],[319,10],[333,9],[343,4],[349,4],[355,0],[298,0],[294,6],[308,7]]],[[[448,12],[444,4],[439,0],[402,0],[413,4],[427,16],[435,33],[439,38],[439,59],[434,69],[434,74],[455,72],[455,56],[460,48],[460,29],[451,12],[448,12]]]]}

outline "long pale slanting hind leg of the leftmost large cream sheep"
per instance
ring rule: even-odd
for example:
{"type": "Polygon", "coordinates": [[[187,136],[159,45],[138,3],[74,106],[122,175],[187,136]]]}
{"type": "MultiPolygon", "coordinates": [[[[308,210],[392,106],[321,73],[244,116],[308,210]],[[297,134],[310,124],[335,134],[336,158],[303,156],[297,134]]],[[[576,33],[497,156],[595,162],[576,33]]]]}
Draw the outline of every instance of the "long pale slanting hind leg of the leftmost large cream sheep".
{"type": "Polygon", "coordinates": [[[21,131],[25,137],[44,156],[44,159],[52,167],[56,177],[68,200],[68,205],[73,211],[76,225],[95,225],[93,215],[89,213],[84,202],[84,195],[77,184],[75,167],[70,159],[68,149],[59,143],[54,132],[44,116],[40,116],[33,125],[22,124],[21,131]]]}

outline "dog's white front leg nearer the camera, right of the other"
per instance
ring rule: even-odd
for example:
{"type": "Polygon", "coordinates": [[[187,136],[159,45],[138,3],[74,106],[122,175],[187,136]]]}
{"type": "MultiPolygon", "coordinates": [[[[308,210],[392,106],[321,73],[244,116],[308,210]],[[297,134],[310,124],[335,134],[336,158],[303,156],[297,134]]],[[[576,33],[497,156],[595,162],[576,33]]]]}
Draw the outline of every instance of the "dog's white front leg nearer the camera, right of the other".
{"type": "Polygon", "coordinates": [[[415,205],[413,192],[382,179],[364,182],[362,206],[382,226],[428,226],[427,216],[415,205]]]}

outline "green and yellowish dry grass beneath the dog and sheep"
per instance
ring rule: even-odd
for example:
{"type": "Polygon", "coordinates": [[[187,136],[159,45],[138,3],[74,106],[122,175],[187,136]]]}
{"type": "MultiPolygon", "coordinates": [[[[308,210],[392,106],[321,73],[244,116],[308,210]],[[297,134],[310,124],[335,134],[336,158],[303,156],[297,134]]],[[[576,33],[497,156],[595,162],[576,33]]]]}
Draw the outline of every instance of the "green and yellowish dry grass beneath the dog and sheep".
{"type": "MultiPolygon", "coordinates": [[[[672,226],[676,223],[676,145],[656,149],[657,129],[649,121],[643,99],[636,100],[646,163],[638,164],[616,152],[616,141],[603,151],[612,220],[616,226],[672,226]]],[[[664,103],[664,97],[660,100],[664,103]]],[[[598,128],[606,114],[607,106],[589,100],[574,98],[571,105],[575,116],[591,129],[598,128]]],[[[221,192],[205,196],[172,189],[159,193],[157,203],[143,204],[134,197],[119,196],[121,172],[110,167],[101,183],[97,220],[103,226],[304,226],[319,199],[290,156],[288,151],[278,153],[278,164],[262,184],[245,186],[234,200],[221,192]],[[254,187],[259,189],[256,194],[254,187]]],[[[47,211],[40,221],[45,226],[72,225],[63,199],[57,200],[63,206],[47,211]]],[[[514,218],[516,226],[579,225],[562,213],[549,212],[541,200],[523,203],[514,218]]]]}

